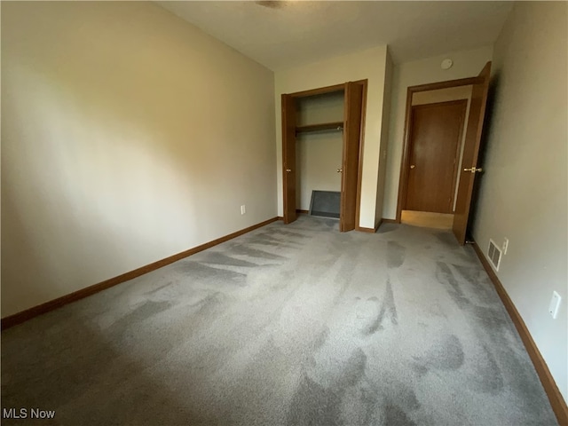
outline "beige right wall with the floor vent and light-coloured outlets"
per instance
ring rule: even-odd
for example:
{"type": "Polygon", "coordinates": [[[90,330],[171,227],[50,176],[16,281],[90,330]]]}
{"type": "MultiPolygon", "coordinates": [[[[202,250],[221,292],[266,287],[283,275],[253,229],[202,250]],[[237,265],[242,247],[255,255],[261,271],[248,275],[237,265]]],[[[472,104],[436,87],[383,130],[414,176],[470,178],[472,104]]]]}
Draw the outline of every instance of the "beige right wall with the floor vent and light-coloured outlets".
{"type": "Polygon", "coordinates": [[[473,235],[508,252],[497,275],[568,399],[568,22],[565,2],[520,2],[495,43],[493,114],[473,235]],[[553,290],[562,296],[548,314],[553,290]]]}

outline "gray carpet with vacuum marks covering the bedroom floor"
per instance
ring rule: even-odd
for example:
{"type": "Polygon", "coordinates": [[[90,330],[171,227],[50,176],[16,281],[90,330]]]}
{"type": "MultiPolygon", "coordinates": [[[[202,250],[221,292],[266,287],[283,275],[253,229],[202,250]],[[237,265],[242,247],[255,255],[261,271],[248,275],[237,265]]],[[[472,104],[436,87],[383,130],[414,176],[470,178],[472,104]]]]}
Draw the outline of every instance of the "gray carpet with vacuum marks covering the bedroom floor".
{"type": "Polygon", "coordinates": [[[2,406],[66,425],[556,424],[470,247],[274,223],[2,335],[2,406]]]}

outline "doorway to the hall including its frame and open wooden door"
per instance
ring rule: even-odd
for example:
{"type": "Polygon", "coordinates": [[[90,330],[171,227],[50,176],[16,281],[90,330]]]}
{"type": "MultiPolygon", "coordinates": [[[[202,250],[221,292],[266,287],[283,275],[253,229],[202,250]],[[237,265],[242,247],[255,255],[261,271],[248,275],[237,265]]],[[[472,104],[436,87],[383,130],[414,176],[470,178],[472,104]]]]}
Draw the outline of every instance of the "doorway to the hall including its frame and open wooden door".
{"type": "Polygon", "coordinates": [[[398,186],[398,223],[453,229],[465,243],[491,62],[477,77],[411,86],[398,186]]]}

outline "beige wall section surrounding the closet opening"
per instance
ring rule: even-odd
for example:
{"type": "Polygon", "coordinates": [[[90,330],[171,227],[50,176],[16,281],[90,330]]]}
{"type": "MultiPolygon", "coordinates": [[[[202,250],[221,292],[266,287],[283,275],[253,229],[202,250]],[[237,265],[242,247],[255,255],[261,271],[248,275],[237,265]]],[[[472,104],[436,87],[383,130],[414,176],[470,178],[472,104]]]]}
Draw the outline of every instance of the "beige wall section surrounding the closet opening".
{"type": "MultiPolygon", "coordinates": [[[[386,46],[359,51],[303,67],[277,71],[275,79],[276,111],[276,176],[278,180],[278,212],[282,216],[282,134],[280,95],[307,91],[333,84],[368,79],[365,146],[363,153],[363,181],[361,186],[360,225],[375,226],[375,208],[381,127],[383,120],[383,92],[386,68],[386,46]]],[[[386,142],[385,142],[386,143],[386,142]]]]}

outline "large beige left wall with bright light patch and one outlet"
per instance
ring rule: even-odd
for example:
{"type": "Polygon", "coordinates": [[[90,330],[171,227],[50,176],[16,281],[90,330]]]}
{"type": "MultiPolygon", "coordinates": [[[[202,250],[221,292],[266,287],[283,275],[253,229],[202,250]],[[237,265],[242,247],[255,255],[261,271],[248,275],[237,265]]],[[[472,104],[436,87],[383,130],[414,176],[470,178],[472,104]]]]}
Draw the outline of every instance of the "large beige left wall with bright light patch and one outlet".
{"type": "Polygon", "coordinates": [[[3,2],[2,316],[275,217],[273,102],[152,3],[3,2]]]}

